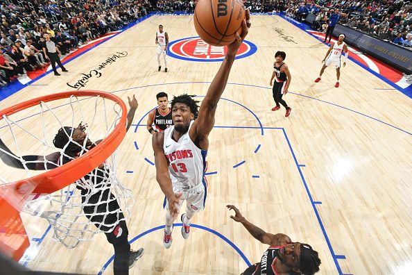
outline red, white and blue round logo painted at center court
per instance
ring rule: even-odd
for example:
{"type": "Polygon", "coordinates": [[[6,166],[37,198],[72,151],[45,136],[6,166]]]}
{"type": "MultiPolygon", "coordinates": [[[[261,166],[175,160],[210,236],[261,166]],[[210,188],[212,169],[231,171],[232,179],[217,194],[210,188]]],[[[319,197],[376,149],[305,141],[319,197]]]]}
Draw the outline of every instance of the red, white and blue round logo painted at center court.
{"type": "MultiPolygon", "coordinates": [[[[227,47],[215,47],[207,44],[198,36],[194,38],[183,38],[169,43],[168,55],[188,61],[214,62],[225,58],[227,47]]],[[[246,58],[257,51],[252,42],[244,40],[237,52],[236,59],[246,58]]]]}

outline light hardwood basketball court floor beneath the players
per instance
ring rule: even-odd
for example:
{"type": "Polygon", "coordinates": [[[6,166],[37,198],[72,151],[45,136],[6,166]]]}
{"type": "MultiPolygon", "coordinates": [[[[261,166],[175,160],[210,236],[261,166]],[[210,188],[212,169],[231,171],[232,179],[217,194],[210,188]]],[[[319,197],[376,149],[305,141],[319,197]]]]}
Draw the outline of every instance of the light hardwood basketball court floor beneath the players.
{"type": "MultiPolygon", "coordinates": [[[[191,16],[150,17],[68,63],[69,73],[41,78],[35,84],[46,86],[28,86],[1,101],[0,108],[71,90],[67,83],[76,83],[80,74],[117,51],[127,51],[128,56],[106,67],[100,78],[90,78],[85,89],[116,92],[126,102],[136,94],[135,124],[155,107],[157,92],[205,95],[209,84],[198,82],[212,81],[220,63],[168,58],[169,72],[157,72],[158,24],[164,25],[171,41],[196,36],[191,16]]],[[[253,16],[247,39],[258,50],[235,61],[232,84],[223,94],[228,100],[218,105],[216,126],[225,127],[212,131],[208,155],[208,172],[217,174],[207,176],[206,209],[194,224],[221,233],[257,263],[267,246],[229,218],[225,205],[231,203],[265,231],[311,244],[320,253],[320,274],[410,272],[411,99],[352,61],[342,70],[340,88],[334,88],[330,68],[315,84],[327,46],[280,17],[253,16]],[[293,76],[284,96],[293,109],[289,118],[284,108],[271,111],[268,84],[279,50],[286,51],[293,76]]],[[[128,222],[130,239],[163,225],[165,215],[155,168],[144,160],[153,161],[151,135],[144,126],[133,130],[121,144],[117,169],[136,198],[128,222]],[[126,174],[128,170],[133,173],[126,174]]],[[[28,215],[24,221],[31,238],[39,238],[47,227],[28,215]]],[[[27,262],[31,269],[97,274],[113,253],[103,234],[70,250],[51,235],[46,234],[38,247],[33,242],[27,262]]],[[[144,247],[145,253],[130,274],[240,274],[247,267],[228,242],[204,229],[193,228],[184,241],[176,227],[169,250],[162,236],[160,229],[132,244],[144,247]]],[[[104,274],[112,274],[112,264],[104,274]]]]}

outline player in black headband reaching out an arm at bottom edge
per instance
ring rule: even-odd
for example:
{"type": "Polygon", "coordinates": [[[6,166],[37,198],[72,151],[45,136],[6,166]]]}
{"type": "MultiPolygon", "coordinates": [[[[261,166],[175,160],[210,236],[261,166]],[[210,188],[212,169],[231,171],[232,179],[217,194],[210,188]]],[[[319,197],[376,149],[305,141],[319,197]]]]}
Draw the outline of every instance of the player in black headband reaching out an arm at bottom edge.
{"type": "Polygon", "coordinates": [[[312,275],[319,271],[320,258],[309,244],[292,242],[289,236],[282,233],[271,234],[248,222],[236,206],[226,206],[234,210],[235,215],[230,216],[235,222],[245,226],[255,239],[270,247],[261,257],[260,263],[250,265],[243,275],[312,275]]]}

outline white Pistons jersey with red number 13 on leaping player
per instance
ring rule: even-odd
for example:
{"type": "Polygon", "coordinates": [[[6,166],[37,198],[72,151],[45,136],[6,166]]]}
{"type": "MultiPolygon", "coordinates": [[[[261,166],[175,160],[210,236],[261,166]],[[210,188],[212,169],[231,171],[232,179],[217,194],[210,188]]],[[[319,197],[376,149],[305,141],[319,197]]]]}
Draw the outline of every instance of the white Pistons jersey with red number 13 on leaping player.
{"type": "MultiPolygon", "coordinates": [[[[194,121],[190,122],[189,130],[194,121]]],[[[205,183],[207,150],[196,147],[189,137],[189,130],[178,142],[172,138],[175,126],[164,130],[163,150],[169,160],[169,176],[173,187],[189,190],[205,183]]],[[[205,186],[206,187],[206,186],[205,186]]]]}

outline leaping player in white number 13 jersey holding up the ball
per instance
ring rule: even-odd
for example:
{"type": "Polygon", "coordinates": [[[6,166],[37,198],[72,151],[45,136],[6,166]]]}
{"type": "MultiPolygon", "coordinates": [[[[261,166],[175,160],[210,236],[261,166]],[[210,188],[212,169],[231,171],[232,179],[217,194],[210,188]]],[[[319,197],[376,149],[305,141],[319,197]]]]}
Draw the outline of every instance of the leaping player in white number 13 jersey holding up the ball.
{"type": "MultiPolygon", "coordinates": [[[[246,19],[250,20],[249,11],[246,19]]],[[[248,21],[250,22],[250,21],[248,21]]],[[[156,179],[166,196],[166,226],[164,247],[172,244],[173,221],[186,200],[186,213],[181,215],[182,236],[189,238],[191,218],[205,207],[206,154],[209,149],[209,133],[214,126],[214,115],[241,43],[248,34],[250,23],[242,22],[242,34],[228,45],[228,52],[216,76],[207,90],[198,110],[197,102],[188,94],[174,97],[171,101],[173,126],[153,135],[156,179]],[[195,120],[196,119],[196,120],[195,120]]]]}

